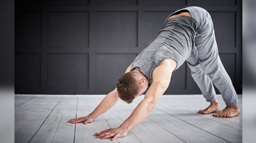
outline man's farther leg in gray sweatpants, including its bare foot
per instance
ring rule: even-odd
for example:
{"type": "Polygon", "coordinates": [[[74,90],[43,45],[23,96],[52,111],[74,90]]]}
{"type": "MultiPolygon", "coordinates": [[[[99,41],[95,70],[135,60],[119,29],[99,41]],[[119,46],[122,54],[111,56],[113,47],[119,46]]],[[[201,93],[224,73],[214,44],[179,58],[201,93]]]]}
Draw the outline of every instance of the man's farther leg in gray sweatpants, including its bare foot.
{"type": "Polygon", "coordinates": [[[204,109],[199,110],[198,113],[200,114],[210,114],[212,112],[218,112],[221,110],[221,107],[216,99],[216,92],[213,87],[213,82],[209,78],[209,76],[205,75],[201,69],[199,64],[199,56],[197,53],[196,47],[194,48],[193,52],[187,59],[187,63],[189,68],[191,69],[191,75],[200,88],[203,97],[206,99],[207,102],[211,102],[211,105],[204,109]]]}

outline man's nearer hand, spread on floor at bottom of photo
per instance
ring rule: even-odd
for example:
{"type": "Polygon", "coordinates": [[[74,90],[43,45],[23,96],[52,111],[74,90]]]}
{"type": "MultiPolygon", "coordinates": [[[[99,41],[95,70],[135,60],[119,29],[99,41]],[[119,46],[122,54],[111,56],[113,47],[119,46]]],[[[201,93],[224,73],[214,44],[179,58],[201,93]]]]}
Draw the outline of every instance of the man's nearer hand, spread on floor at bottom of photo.
{"type": "Polygon", "coordinates": [[[96,136],[96,138],[101,138],[101,139],[107,139],[107,138],[113,137],[111,140],[114,141],[117,138],[126,137],[127,131],[119,127],[119,128],[108,129],[100,133],[96,133],[94,134],[94,136],[96,136]]]}

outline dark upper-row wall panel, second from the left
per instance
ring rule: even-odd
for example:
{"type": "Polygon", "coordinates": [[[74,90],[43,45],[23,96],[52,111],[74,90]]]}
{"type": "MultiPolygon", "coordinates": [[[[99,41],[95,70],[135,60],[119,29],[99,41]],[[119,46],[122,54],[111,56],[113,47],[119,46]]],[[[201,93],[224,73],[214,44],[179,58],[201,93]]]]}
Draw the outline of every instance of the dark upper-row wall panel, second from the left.
{"type": "Polygon", "coordinates": [[[48,12],[48,47],[88,47],[89,12],[48,12]]]}

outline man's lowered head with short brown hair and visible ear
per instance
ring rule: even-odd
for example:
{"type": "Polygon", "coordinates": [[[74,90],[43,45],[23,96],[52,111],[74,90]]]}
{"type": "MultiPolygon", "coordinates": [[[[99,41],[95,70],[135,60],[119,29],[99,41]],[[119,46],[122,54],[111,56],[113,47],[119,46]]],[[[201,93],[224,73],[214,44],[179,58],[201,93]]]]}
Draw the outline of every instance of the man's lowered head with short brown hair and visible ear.
{"type": "Polygon", "coordinates": [[[119,97],[129,104],[135,97],[146,91],[148,85],[147,78],[138,70],[134,70],[123,74],[118,79],[117,92],[119,97]]]}

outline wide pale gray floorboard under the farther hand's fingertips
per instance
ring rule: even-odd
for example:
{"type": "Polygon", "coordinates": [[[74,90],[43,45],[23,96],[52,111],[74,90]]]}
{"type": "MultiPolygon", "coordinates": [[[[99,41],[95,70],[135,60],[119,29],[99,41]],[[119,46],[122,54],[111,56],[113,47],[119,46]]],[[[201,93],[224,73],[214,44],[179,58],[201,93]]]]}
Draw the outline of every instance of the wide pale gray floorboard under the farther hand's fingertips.
{"type": "Polygon", "coordinates": [[[68,120],[75,118],[76,103],[77,96],[62,97],[31,142],[73,142],[75,124],[68,120]]]}

